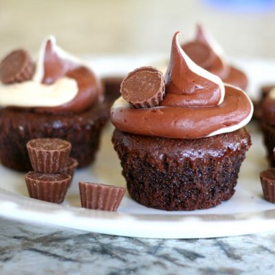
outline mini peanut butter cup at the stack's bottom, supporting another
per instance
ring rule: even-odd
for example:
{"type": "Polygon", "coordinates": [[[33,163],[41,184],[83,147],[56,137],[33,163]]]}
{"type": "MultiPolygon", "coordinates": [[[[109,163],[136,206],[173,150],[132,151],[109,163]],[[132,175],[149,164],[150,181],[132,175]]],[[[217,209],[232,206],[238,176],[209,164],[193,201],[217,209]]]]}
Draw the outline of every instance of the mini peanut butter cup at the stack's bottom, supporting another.
{"type": "Polygon", "coordinates": [[[31,171],[25,175],[30,197],[54,203],[64,201],[71,179],[67,173],[44,174],[31,171]]]}

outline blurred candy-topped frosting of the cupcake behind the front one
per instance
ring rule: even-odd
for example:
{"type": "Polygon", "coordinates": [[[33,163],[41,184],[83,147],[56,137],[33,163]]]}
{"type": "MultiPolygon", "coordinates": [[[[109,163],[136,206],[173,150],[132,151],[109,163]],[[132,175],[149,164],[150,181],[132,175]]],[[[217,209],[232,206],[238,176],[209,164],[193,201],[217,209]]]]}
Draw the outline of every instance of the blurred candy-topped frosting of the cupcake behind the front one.
{"type": "Polygon", "coordinates": [[[245,74],[228,63],[222,48],[201,25],[197,25],[195,39],[182,44],[181,47],[192,61],[219,76],[223,82],[241,89],[248,86],[245,74]]]}

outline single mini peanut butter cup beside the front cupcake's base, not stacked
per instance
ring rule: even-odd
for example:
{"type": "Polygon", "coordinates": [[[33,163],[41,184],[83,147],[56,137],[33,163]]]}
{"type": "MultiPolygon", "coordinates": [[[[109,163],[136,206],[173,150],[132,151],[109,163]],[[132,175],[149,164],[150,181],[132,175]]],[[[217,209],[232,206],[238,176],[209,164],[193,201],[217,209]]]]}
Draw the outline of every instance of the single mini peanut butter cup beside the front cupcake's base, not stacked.
{"type": "Polygon", "coordinates": [[[80,181],[79,192],[83,208],[116,211],[126,188],[80,181]]]}

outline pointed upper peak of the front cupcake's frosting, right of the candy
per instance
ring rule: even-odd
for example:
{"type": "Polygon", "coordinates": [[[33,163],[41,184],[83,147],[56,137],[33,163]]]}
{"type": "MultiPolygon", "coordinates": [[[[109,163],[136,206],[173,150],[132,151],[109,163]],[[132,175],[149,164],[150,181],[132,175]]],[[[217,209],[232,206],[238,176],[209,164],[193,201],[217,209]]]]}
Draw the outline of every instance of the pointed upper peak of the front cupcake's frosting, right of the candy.
{"type": "Polygon", "coordinates": [[[173,36],[170,63],[165,74],[166,98],[162,104],[181,107],[212,107],[223,102],[224,85],[221,78],[195,64],[181,49],[173,36]]]}

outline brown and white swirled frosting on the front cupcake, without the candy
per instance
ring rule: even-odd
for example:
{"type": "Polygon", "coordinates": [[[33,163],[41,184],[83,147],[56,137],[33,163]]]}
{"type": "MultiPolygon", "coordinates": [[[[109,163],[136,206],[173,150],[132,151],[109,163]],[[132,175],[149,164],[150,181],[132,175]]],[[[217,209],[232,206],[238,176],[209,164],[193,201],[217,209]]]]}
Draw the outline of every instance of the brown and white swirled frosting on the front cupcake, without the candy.
{"type": "MultiPolygon", "coordinates": [[[[173,36],[163,100],[159,106],[135,108],[118,98],[111,108],[111,122],[120,131],[196,139],[235,131],[252,118],[253,106],[248,96],[196,65],[179,45],[179,35],[177,32],[173,36]]],[[[124,81],[129,76],[133,78],[133,72],[124,81]]],[[[147,82],[151,87],[149,78],[147,82]]],[[[138,83],[136,78],[133,86],[138,83]]]]}

